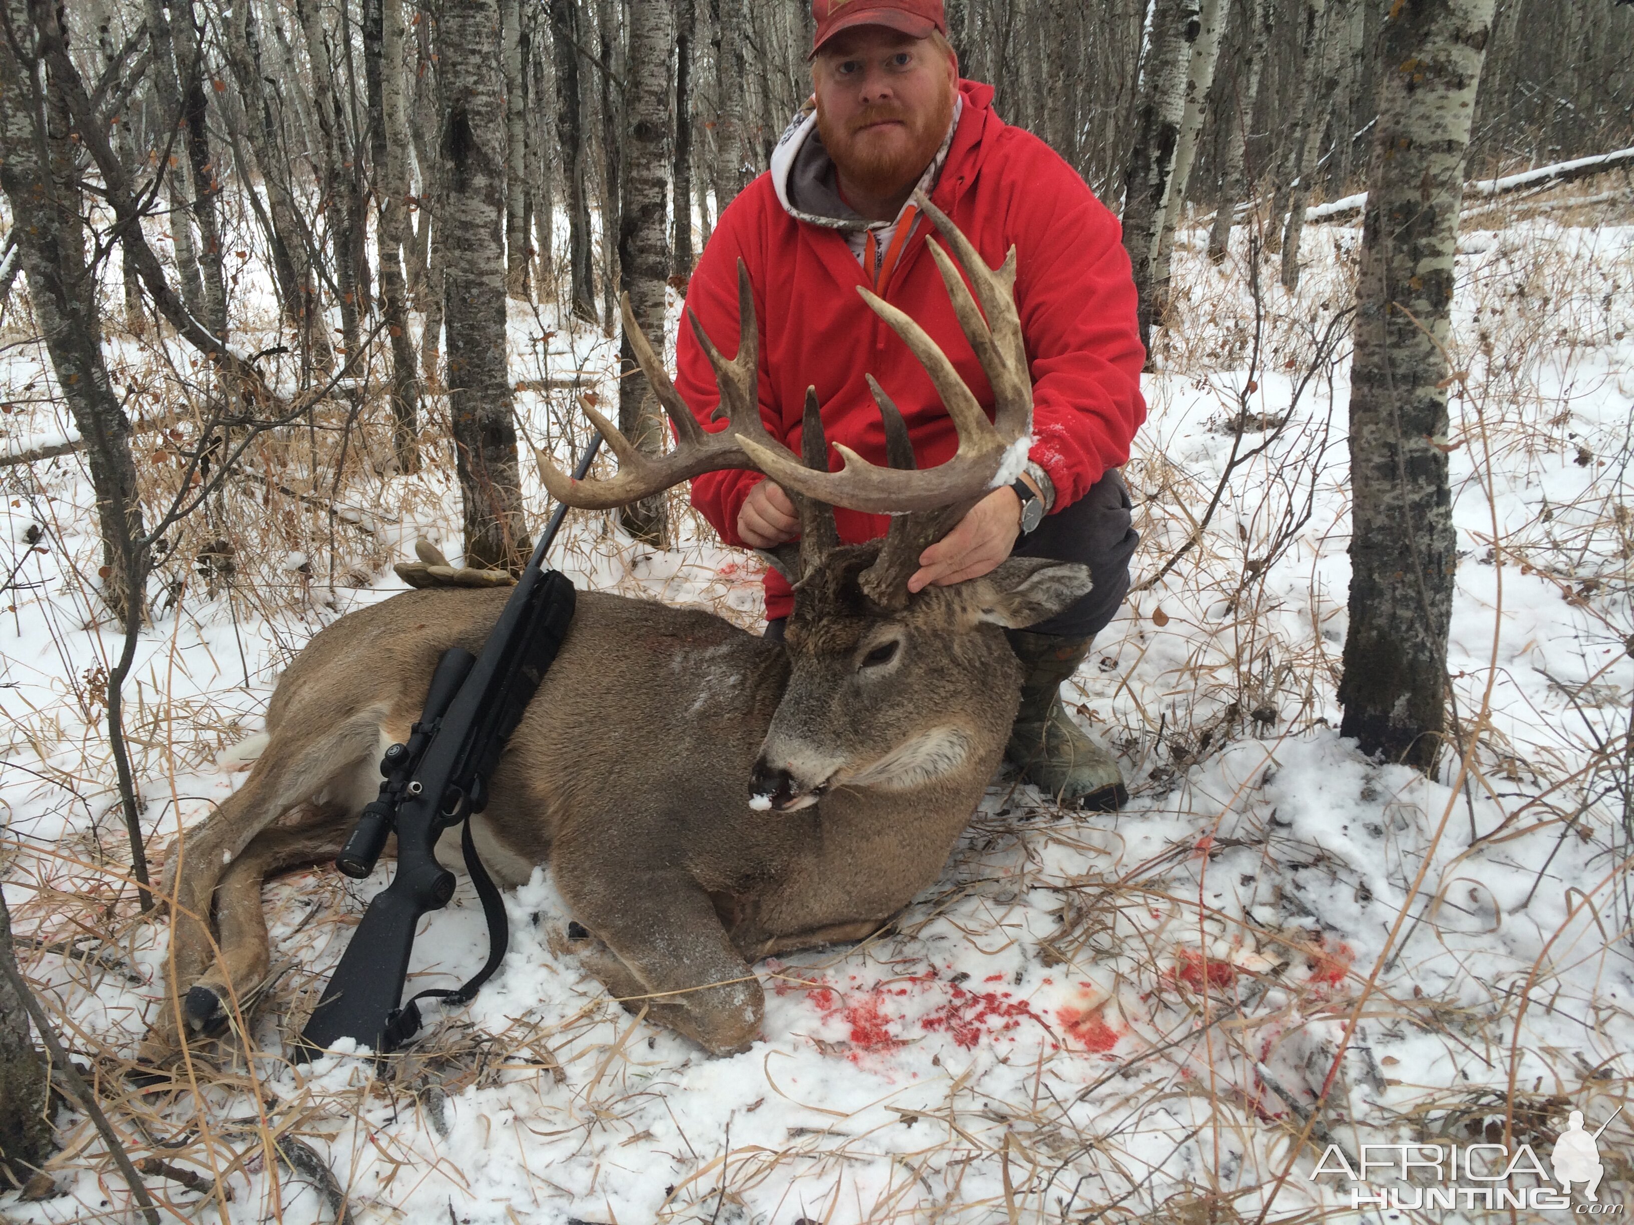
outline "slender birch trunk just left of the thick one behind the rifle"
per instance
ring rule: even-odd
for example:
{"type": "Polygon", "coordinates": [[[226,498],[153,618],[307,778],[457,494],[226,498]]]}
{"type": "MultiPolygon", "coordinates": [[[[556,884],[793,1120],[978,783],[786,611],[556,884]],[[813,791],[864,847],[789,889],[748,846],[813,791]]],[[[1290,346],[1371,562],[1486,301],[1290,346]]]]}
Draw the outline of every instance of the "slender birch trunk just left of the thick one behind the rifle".
{"type": "Polygon", "coordinates": [[[402,472],[420,467],[420,379],[408,333],[402,248],[408,219],[408,118],[404,113],[400,0],[364,0],[363,72],[369,93],[369,158],[377,175],[381,315],[392,346],[392,451],[402,472]]]}

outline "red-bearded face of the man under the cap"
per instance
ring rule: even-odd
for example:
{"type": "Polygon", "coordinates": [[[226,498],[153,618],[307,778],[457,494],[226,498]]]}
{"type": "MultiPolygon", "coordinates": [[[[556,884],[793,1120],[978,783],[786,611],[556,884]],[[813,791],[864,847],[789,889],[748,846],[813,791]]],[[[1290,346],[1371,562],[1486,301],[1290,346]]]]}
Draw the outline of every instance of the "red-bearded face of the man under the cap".
{"type": "Polygon", "coordinates": [[[958,96],[946,52],[886,26],[853,26],[824,44],[812,75],[817,131],[843,185],[891,196],[925,173],[958,96]]]}

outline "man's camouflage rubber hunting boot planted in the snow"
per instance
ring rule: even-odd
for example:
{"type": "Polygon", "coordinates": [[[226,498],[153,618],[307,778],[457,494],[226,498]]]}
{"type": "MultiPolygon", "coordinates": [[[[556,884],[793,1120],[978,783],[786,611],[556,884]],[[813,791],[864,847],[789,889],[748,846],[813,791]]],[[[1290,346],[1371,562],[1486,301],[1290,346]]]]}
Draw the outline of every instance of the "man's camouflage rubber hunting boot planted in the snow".
{"type": "Polygon", "coordinates": [[[1005,634],[1021,660],[1021,709],[1005,758],[1021,777],[1067,808],[1114,812],[1129,802],[1111,755],[1072,722],[1060,683],[1090,653],[1090,639],[1059,639],[1013,629],[1005,634]]]}

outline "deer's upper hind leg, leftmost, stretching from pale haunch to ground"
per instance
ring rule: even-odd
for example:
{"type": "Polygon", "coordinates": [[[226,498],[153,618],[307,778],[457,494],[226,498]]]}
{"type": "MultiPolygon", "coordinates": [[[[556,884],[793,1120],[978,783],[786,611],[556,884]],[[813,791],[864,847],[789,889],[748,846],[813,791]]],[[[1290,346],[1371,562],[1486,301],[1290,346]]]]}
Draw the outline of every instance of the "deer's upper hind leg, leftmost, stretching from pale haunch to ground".
{"type": "MultiPolygon", "coordinates": [[[[281,815],[319,797],[348,802],[359,774],[381,751],[384,712],[364,710],[319,738],[279,728],[234,792],[198,830],[176,840],[165,864],[163,895],[170,902],[168,991],[142,1057],[162,1062],[175,1050],[178,1000],[214,960],[209,931],[211,898],[225,867],[281,815]]],[[[361,805],[359,805],[361,807],[361,805]]]]}

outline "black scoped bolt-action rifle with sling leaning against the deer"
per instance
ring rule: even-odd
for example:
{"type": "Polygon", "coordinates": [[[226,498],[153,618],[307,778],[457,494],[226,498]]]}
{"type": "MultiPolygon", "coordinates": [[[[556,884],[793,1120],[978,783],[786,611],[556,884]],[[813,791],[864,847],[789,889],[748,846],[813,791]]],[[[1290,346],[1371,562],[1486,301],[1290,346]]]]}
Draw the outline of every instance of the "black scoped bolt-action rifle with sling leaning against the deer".
{"type": "MultiPolygon", "coordinates": [[[[601,439],[592,441],[574,470],[583,480],[601,439]]],[[[351,942],[330,975],[301,1034],[297,1058],[314,1058],[350,1037],[384,1055],[420,1031],[420,1000],[444,1006],[469,1003],[505,957],[510,939],[505,903],[471,841],[471,817],[489,802],[489,779],[523,710],[556,660],[574,619],[574,585],[544,565],[567,506],[557,506],[516,580],[480,655],[451,647],[438,660],[420,722],[408,740],[381,760],[381,794],[363,808],[335,858],[350,877],[374,872],[386,838],[397,835],[397,874],[376,893],[351,942]],[[458,991],[420,991],[402,1000],[415,926],[428,910],[454,895],[454,874],[436,861],[436,843],[464,825],[461,849],[489,921],[489,960],[458,991]]]]}

